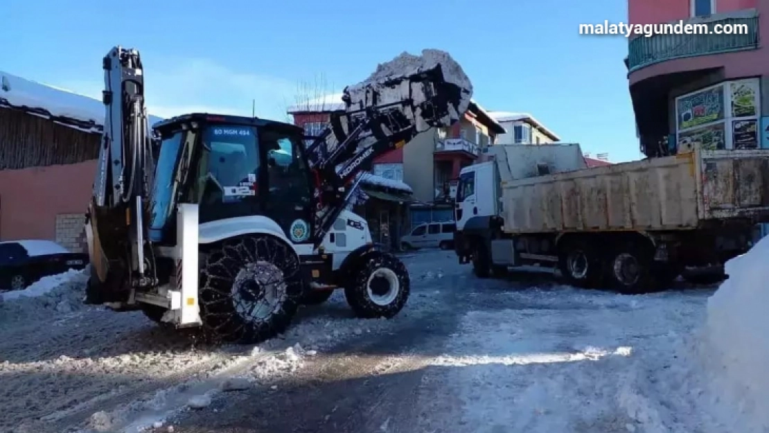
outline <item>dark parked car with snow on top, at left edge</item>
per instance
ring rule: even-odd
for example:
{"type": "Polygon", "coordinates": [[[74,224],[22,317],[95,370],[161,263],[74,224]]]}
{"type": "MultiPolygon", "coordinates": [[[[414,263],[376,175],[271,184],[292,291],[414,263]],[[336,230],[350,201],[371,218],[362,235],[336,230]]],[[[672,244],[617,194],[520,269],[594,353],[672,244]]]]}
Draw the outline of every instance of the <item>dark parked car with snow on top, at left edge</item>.
{"type": "Polygon", "coordinates": [[[86,265],[87,254],[68,251],[53,241],[0,242],[0,291],[22,290],[45,276],[86,265]]]}

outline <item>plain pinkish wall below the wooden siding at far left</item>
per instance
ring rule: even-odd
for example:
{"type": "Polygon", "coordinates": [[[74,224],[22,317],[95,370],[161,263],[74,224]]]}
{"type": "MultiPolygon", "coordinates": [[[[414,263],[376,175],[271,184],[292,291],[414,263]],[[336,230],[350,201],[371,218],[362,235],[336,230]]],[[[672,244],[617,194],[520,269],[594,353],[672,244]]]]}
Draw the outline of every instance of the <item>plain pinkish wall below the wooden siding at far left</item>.
{"type": "Polygon", "coordinates": [[[74,248],[82,231],[74,221],[82,229],[95,170],[87,161],[0,171],[0,240],[58,238],[74,248]]]}

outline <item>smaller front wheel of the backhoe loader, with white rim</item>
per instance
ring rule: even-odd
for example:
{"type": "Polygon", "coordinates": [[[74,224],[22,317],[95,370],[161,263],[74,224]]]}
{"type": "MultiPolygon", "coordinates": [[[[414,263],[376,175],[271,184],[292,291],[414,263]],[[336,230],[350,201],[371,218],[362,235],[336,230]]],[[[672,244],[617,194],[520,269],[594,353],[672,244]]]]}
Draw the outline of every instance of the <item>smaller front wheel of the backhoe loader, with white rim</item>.
{"type": "Polygon", "coordinates": [[[358,271],[345,298],[359,318],[392,318],[406,305],[411,281],[403,262],[394,255],[371,255],[358,271]]]}

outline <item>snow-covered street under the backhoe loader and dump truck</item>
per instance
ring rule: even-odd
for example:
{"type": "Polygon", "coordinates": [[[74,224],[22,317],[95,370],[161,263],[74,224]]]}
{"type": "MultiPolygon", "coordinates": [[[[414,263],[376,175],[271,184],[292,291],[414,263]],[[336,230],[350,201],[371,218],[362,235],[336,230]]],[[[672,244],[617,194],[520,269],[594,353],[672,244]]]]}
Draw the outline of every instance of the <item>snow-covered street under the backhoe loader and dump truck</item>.
{"type": "Polygon", "coordinates": [[[767,305],[736,276],[760,268],[750,257],[727,266],[711,298],[714,288],[622,296],[549,277],[479,280],[450,251],[418,251],[404,257],[413,288],[397,318],[351,318],[338,293],[256,347],[204,345],[141,313],[62,311],[82,295],[83,276],[70,275],[0,304],[0,431],[766,431],[767,325],[734,312],[767,305]],[[332,378],[346,379],[309,385],[332,378]],[[372,389],[361,415],[351,401],[372,389]],[[301,415],[265,420],[265,392],[301,415]]]}

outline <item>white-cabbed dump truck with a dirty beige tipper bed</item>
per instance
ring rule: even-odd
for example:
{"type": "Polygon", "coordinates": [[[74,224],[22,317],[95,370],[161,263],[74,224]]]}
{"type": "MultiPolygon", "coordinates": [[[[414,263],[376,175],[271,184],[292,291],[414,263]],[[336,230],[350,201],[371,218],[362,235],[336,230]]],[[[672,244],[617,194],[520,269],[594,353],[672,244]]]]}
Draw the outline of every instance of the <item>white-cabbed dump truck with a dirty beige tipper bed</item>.
{"type": "Polygon", "coordinates": [[[481,278],[524,265],[634,294],[722,265],[769,221],[769,150],[587,168],[576,144],[494,145],[460,172],[454,249],[481,278]]]}

